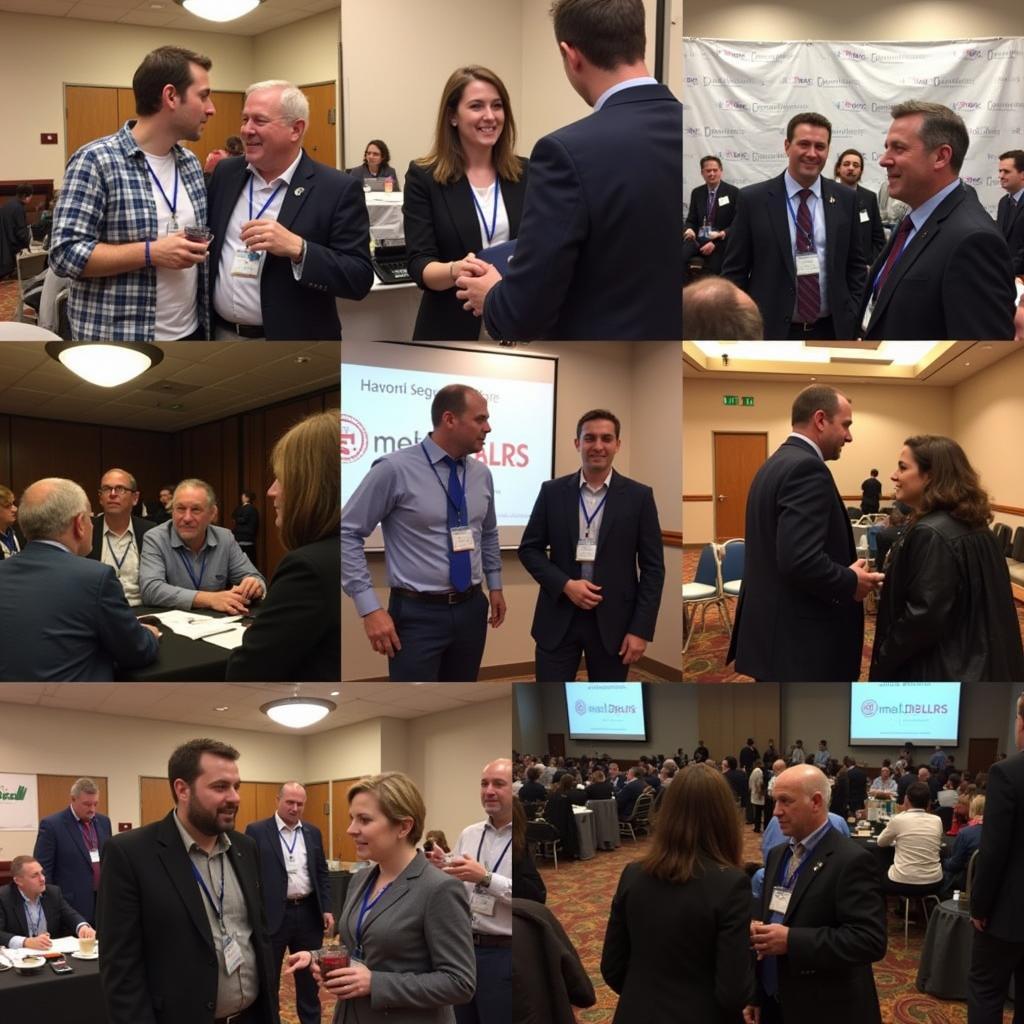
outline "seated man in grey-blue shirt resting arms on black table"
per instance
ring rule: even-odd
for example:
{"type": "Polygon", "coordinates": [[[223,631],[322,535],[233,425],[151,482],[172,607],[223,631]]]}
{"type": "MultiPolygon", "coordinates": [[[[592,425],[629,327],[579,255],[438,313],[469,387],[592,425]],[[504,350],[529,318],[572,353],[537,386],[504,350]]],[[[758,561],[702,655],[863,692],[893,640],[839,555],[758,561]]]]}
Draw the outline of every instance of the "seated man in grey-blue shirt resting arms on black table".
{"type": "Polygon", "coordinates": [[[231,531],[213,525],[216,514],[217,499],[205,480],[189,478],[174,488],[171,521],[142,539],[143,604],[240,615],[266,594],[266,581],[231,531]]]}

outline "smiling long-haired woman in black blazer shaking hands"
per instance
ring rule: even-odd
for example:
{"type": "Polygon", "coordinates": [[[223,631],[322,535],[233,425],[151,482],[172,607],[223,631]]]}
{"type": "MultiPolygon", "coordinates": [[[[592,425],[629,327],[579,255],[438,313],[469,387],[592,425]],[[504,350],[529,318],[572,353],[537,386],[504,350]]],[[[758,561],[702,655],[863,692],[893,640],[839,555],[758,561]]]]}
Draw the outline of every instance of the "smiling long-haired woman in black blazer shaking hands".
{"type": "Polygon", "coordinates": [[[515,154],[515,119],[505,83],[479,65],[444,84],[430,152],[409,165],[404,219],[409,272],[423,289],[414,341],[471,341],[480,319],[456,298],[468,257],[514,239],[527,161],[515,154]]]}

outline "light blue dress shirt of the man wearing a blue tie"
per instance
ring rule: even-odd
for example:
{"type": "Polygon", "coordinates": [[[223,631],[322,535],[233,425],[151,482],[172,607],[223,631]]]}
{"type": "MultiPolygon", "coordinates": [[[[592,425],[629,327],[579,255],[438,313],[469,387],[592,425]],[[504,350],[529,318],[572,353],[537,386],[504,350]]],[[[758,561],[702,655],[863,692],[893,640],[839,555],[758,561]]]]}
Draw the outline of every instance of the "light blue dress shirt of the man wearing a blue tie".
{"type": "MultiPolygon", "coordinates": [[[[381,606],[362,547],[378,524],[384,532],[389,586],[435,592],[452,589],[444,455],[428,436],[422,444],[378,459],[341,510],[341,586],[360,615],[381,606]]],[[[465,473],[463,489],[474,545],[469,553],[472,582],[478,584],[485,578],[488,590],[501,590],[494,479],[490,470],[471,456],[465,459],[465,473]]]]}

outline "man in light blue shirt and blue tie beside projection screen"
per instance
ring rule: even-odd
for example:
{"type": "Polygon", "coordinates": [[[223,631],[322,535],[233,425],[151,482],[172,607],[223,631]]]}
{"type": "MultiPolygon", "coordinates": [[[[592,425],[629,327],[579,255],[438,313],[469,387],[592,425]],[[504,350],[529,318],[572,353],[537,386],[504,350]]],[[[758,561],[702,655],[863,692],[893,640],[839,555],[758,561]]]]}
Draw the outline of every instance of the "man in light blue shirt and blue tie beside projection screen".
{"type": "Polygon", "coordinates": [[[497,629],[505,620],[494,480],[484,462],[468,458],[490,432],[486,399],[449,384],[430,418],[424,440],[378,459],[341,510],[342,589],[370,645],[387,655],[392,682],[475,680],[487,623],[497,629]],[[391,588],[386,611],[364,550],[378,525],[391,588]]]}

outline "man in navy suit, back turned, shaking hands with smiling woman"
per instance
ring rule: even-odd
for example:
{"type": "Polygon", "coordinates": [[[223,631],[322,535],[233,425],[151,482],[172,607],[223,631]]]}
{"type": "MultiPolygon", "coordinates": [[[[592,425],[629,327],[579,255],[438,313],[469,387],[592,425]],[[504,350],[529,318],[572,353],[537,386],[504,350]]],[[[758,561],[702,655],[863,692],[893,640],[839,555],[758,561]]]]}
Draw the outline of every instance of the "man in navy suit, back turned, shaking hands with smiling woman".
{"type": "Polygon", "coordinates": [[[644,65],[644,5],[552,9],[565,75],[594,113],[534,147],[508,275],[481,264],[459,298],[493,338],[679,339],[682,106],[644,65]]]}

